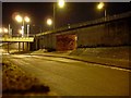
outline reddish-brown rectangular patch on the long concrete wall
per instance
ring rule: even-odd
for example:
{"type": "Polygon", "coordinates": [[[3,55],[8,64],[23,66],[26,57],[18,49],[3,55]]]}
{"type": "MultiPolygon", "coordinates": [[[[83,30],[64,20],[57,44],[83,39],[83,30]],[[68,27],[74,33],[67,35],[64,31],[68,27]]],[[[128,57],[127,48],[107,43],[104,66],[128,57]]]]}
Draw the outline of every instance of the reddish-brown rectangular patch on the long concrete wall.
{"type": "Polygon", "coordinates": [[[57,35],[56,50],[67,51],[76,49],[78,36],[74,34],[57,35]]]}

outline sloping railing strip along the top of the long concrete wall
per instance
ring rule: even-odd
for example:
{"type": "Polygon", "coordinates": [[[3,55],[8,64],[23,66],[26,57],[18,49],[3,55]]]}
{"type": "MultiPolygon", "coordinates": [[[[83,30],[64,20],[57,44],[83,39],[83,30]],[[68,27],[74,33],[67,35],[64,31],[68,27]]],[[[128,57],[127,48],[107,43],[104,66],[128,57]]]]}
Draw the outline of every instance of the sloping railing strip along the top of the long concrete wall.
{"type": "Polygon", "coordinates": [[[130,16],[131,16],[131,11],[126,12],[126,13],[121,13],[121,14],[115,14],[115,15],[111,15],[111,16],[97,19],[97,20],[94,20],[94,21],[87,21],[87,22],[83,22],[83,23],[79,23],[79,24],[73,24],[73,25],[70,25],[70,28],[68,26],[64,26],[64,27],[61,27],[61,28],[58,28],[58,29],[55,29],[55,30],[49,30],[49,32],[36,34],[35,36],[41,36],[41,35],[47,35],[47,34],[52,34],[52,33],[59,33],[59,32],[63,32],[63,30],[81,28],[81,27],[84,27],[84,26],[95,25],[95,24],[110,22],[110,21],[115,21],[115,20],[119,20],[119,19],[123,19],[123,17],[130,17],[130,16]]]}

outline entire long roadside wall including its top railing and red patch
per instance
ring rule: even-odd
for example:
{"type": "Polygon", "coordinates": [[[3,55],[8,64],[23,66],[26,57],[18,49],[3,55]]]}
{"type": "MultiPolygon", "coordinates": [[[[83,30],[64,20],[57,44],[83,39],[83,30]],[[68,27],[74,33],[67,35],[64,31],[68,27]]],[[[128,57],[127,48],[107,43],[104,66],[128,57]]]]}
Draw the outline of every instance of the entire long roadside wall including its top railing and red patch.
{"type": "Polygon", "coordinates": [[[32,49],[70,50],[131,45],[131,12],[115,14],[37,34],[32,49]]]}

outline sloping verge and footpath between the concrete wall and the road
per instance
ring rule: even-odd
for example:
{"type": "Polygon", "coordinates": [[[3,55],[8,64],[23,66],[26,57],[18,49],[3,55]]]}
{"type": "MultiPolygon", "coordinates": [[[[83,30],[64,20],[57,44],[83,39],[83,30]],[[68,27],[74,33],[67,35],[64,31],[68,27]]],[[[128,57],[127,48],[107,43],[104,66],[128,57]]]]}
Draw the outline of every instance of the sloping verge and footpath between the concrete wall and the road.
{"type": "Polygon", "coordinates": [[[129,60],[130,49],[131,47],[80,48],[73,51],[55,52],[46,52],[44,49],[40,49],[38,51],[32,52],[31,54],[61,57],[87,63],[131,70],[131,61],[129,60]]]}

